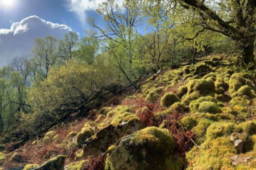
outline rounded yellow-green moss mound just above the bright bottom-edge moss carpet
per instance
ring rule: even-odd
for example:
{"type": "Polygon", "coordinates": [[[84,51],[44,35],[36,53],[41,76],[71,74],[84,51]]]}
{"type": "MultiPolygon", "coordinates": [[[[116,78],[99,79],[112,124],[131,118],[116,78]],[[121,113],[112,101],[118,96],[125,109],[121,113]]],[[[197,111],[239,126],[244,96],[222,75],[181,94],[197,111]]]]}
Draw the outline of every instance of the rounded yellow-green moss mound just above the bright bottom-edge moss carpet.
{"type": "Polygon", "coordinates": [[[221,136],[228,136],[235,130],[233,123],[214,122],[207,128],[207,140],[216,139],[221,136]]]}

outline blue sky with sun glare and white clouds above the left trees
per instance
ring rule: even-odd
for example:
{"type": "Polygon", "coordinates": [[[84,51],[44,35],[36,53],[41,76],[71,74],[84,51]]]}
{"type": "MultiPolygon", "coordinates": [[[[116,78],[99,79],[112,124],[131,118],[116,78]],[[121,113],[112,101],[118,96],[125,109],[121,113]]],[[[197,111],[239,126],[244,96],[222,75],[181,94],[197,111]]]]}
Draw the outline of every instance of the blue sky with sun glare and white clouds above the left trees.
{"type": "Polygon", "coordinates": [[[89,17],[102,25],[102,17],[95,9],[103,1],[0,0],[0,67],[15,57],[28,55],[36,38],[52,35],[60,39],[68,31],[83,37],[84,30],[90,29],[86,22],[89,17]]]}

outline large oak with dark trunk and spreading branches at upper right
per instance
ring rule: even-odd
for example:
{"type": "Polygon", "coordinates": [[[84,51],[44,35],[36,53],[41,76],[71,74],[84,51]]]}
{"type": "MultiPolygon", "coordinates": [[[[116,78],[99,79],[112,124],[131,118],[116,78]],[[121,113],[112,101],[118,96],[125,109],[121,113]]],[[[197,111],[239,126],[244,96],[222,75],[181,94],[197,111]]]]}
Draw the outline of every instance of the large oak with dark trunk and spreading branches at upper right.
{"type": "MultiPolygon", "coordinates": [[[[172,14],[175,10],[187,15],[184,22],[200,25],[199,32],[211,30],[230,37],[236,42],[244,64],[255,63],[253,42],[256,37],[256,1],[255,0],[149,0],[164,5],[163,11],[172,14]],[[218,11],[216,10],[218,9],[218,11]],[[193,17],[194,16],[194,17],[193,17]]],[[[177,12],[175,13],[177,15],[177,12]]]]}

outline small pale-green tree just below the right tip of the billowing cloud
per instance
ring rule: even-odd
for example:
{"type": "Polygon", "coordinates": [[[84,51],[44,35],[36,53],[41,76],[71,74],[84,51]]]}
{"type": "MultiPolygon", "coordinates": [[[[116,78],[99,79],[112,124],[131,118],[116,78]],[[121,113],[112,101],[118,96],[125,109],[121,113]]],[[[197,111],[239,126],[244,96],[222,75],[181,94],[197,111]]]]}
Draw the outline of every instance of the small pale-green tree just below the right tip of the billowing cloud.
{"type": "Polygon", "coordinates": [[[64,35],[64,38],[60,40],[59,50],[60,56],[66,59],[73,59],[73,51],[76,49],[79,42],[79,36],[76,32],[69,31],[64,35]]]}

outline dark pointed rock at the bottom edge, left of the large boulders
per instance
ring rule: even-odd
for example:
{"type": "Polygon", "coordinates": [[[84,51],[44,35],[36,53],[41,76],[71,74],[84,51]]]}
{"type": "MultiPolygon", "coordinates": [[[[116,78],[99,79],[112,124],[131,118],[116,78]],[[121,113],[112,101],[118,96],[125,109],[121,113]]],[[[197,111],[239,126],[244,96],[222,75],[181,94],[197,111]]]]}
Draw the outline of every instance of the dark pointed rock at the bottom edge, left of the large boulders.
{"type": "Polygon", "coordinates": [[[56,156],[34,170],[64,170],[66,157],[63,155],[56,156]]]}

